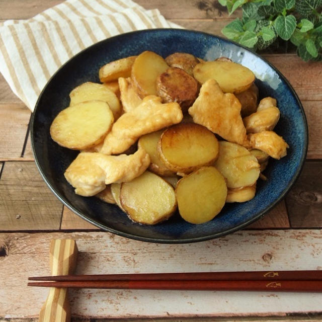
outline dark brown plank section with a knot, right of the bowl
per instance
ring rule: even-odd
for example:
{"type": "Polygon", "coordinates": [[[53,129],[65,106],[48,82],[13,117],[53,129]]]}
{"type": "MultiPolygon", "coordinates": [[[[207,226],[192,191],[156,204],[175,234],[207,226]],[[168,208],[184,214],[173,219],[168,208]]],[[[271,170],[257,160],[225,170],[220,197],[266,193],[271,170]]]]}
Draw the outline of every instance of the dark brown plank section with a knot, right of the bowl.
{"type": "Polygon", "coordinates": [[[286,197],[291,227],[322,226],[322,161],[307,161],[286,197]]]}

